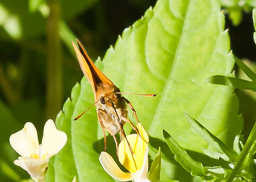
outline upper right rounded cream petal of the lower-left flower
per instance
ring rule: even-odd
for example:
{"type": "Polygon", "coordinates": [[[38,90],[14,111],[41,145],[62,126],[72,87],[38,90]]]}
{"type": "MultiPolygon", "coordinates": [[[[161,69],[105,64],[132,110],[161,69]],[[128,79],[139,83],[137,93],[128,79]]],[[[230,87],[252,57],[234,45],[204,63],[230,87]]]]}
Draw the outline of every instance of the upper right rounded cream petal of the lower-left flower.
{"type": "MultiPolygon", "coordinates": [[[[66,144],[67,136],[63,131],[56,129],[53,120],[47,120],[43,129],[43,154],[53,156],[66,144]]],[[[45,156],[42,156],[43,158],[45,156]]]]}

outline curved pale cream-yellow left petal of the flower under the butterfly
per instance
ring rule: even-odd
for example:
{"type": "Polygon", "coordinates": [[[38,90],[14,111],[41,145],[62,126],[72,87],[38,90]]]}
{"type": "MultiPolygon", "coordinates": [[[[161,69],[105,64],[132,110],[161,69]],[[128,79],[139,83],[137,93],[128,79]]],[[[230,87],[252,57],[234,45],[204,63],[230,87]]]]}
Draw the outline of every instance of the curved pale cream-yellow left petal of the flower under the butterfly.
{"type": "Polygon", "coordinates": [[[100,164],[104,168],[104,170],[113,178],[119,181],[130,181],[133,180],[134,173],[125,173],[123,172],[116,164],[114,159],[107,153],[100,153],[100,164]]]}

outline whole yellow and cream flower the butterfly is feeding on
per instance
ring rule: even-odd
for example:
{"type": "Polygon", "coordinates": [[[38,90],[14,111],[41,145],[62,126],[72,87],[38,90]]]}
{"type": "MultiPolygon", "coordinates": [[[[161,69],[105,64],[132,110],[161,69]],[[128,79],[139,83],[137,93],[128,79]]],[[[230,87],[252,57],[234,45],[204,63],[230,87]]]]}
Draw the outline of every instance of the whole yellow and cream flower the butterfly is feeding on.
{"type": "MultiPolygon", "coordinates": [[[[138,123],[136,127],[140,135],[148,142],[149,138],[147,132],[142,125],[138,123]]],[[[99,157],[100,164],[104,170],[116,180],[150,182],[147,177],[148,144],[138,134],[130,134],[126,138],[133,149],[133,154],[130,152],[127,141],[123,139],[118,147],[118,156],[120,163],[129,170],[130,173],[123,172],[107,152],[101,152],[99,157]]]]}

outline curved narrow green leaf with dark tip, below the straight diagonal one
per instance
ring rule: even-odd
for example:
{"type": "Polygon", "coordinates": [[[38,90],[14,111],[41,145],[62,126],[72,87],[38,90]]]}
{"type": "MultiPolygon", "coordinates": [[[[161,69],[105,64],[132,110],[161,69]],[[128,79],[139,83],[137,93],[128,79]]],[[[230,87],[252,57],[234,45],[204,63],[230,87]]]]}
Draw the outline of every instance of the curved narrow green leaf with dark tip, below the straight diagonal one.
{"type": "Polygon", "coordinates": [[[194,161],[186,152],[186,150],[181,147],[165,130],[163,130],[164,138],[168,147],[173,152],[174,159],[180,163],[185,170],[191,173],[192,176],[199,176],[203,180],[212,180],[214,176],[209,173],[209,171],[203,167],[201,162],[194,161]],[[208,172],[207,174],[205,172],[208,172]]]}

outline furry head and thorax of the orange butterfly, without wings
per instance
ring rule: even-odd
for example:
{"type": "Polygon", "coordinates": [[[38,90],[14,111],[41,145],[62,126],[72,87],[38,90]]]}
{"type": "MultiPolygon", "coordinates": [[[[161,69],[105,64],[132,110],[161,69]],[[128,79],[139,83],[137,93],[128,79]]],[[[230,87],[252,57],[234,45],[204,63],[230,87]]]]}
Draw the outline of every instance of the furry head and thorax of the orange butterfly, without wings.
{"type": "Polygon", "coordinates": [[[97,102],[95,105],[98,117],[111,135],[120,132],[125,123],[122,117],[127,118],[125,101],[121,94],[116,94],[116,92],[120,90],[115,85],[101,84],[97,87],[94,98],[97,102]]]}

